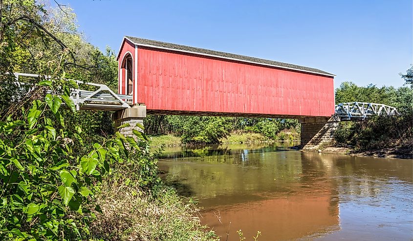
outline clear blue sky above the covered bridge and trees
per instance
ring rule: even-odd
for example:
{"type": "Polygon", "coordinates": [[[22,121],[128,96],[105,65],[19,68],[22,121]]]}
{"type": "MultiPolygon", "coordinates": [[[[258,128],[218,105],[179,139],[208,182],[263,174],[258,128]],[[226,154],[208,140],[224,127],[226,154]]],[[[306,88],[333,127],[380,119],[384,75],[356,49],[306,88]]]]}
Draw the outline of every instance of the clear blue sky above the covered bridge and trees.
{"type": "Polygon", "coordinates": [[[357,85],[403,85],[413,60],[412,0],[58,0],[87,41],[124,35],[315,67],[357,85]]]}

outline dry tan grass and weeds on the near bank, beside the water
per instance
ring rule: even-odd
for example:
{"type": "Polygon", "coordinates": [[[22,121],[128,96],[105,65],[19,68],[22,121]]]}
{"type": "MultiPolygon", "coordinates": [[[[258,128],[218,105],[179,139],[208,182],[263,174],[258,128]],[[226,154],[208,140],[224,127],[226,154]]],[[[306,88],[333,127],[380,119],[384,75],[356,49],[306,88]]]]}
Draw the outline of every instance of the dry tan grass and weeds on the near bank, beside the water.
{"type": "Polygon", "coordinates": [[[154,195],[125,185],[106,183],[97,197],[102,213],[92,224],[92,236],[113,241],[217,240],[204,231],[193,201],[183,202],[162,187],[154,195]]]}

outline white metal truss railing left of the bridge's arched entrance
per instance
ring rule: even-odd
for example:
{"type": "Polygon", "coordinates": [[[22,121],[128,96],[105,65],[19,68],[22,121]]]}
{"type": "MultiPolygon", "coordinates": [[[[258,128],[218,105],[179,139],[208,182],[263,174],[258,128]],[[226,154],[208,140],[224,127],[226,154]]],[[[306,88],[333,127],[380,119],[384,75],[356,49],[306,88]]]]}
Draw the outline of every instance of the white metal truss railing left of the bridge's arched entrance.
{"type": "MultiPolygon", "coordinates": [[[[38,74],[14,73],[16,76],[17,85],[21,86],[24,83],[19,82],[19,77],[41,77],[38,74]]],[[[47,78],[47,77],[46,77],[47,78]]],[[[132,104],[132,96],[115,94],[109,87],[103,84],[85,83],[80,80],[74,80],[79,86],[87,85],[95,88],[95,90],[84,90],[73,88],[70,93],[70,98],[76,106],[76,110],[122,110],[130,108],[132,104]]]]}

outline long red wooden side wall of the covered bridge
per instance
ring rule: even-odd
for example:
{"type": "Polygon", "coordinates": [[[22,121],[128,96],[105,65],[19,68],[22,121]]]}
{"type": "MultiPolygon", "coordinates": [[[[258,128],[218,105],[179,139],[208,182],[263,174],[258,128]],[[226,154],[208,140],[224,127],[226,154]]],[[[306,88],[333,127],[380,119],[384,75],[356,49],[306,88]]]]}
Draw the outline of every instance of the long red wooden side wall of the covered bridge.
{"type": "Polygon", "coordinates": [[[334,113],[333,77],[316,74],[138,46],[137,79],[137,103],[149,112],[334,113]]]}

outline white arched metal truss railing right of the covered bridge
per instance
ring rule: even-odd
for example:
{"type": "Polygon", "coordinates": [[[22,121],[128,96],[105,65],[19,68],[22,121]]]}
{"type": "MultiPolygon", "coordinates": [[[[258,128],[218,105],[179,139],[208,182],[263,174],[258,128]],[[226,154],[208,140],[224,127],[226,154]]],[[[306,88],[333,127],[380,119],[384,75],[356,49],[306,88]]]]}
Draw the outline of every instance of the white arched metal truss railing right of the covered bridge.
{"type": "Polygon", "coordinates": [[[383,104],[348,102],[336,105],[335,114],[342,120],[351,120],[366,118],[371,115],[396,115],[398,112],[396,108],[383,104]]]}

